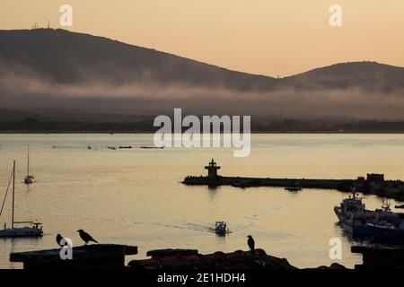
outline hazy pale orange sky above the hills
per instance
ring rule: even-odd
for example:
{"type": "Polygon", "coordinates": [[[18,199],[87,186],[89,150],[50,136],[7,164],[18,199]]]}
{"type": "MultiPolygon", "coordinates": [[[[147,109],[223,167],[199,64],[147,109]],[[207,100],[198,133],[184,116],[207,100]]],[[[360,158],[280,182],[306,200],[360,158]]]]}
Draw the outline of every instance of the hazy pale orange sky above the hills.
{"type": "Polygon", "coordinates": [[[0,2],[0,29],[73,27],[254,74],[285,76],[338,62],[404,66],[403,0],[13,0],[0,2]],[[342,27],[329,6],[342,7],[342,27]]]}

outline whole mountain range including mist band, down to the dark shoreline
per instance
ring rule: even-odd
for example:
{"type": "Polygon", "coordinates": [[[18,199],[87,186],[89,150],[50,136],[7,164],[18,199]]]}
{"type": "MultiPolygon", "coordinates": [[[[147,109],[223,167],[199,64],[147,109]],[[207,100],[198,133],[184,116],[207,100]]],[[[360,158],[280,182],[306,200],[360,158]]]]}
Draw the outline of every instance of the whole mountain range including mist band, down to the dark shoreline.
{"type": "Polygon", "coordinates": [[[404,118],[404,68],[247,74],[67,30],[0,30],[0,108],[404,118]]]}

